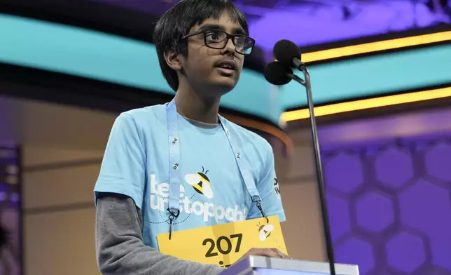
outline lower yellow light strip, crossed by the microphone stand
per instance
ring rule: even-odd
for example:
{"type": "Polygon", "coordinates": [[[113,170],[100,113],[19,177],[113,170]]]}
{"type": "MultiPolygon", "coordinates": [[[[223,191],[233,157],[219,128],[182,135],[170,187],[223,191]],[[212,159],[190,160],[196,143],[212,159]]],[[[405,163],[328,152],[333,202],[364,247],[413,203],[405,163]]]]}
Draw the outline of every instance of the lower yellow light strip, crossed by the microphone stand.
{"type": "MultiPolygon", "coordinates": [[[[350,102],[336,103],[314,108],[315,116],[326,116],[329,114],[340,114],[363,109],[372,109],[391,105],[400,105],[411,102],[433,100],[437,98],[451,97],[451,87],[439,88],[435,90],[422,90],[414,93],[404,93],[402,95],[387,95],[380,98],[370,98],[368,100],[355,100],[350,102]]],[[[295,121],[298,119],[308,119],[310,117],[309,109],[300,109],[284,112],[283,121],[295,121]]]]}

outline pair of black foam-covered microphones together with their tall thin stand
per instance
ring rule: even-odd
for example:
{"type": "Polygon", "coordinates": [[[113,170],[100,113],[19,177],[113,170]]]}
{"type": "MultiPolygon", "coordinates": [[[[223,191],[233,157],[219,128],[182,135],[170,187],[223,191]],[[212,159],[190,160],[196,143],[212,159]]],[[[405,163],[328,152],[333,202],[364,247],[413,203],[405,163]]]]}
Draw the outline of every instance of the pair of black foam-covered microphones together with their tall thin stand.
{"type": "Polygon", "coordinates": [[[326,202],[326,188],[324,187],[323,171],[321,166],[321,156],[318,142],[317,122],[314,117],[314,104],[312,97],[312,85],[310,83],[310,73],[301,62],[300,51],[295,43],[289,40],[278,41],[272,51],[277,61],[268,63],[265,67],[265,79],[277,86],[285,85],[294,80],[307,90],[307,103],[310,111],[310,124],[312,126],[313,153],[317,173],[317,182],[319,189],[319,201],[321,202],[321,215],[323,218],[324,239],[326,241],[326,252],[328,256],[329,269],[331,275],[335,275],[335,259],[333,256],[333,246],[331,237],[331,228],[329,226],[328,209],[326,202]],[[305,80],[296,74],[293,74],[291,68],[299,69],[303,72],[305,80]]]}

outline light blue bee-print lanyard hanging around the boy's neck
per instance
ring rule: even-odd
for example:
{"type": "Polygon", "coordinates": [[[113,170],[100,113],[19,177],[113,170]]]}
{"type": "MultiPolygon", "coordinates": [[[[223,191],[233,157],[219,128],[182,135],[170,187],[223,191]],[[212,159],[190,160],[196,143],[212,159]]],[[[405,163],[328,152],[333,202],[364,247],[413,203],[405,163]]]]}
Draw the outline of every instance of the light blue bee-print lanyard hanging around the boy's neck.
{"type": "MultiPolygon", "coordinates": [[[[166,106],[166,116],[169,137],[169,200],[167,210],[169,212],[169,239],[171,239],[172,222],[179,217],[180,214],[181,185],[179,123],[177,120],[175,99],[166,106]]],[[[235,161],[237,161],[247,192],[249,192],[252,202],[256,203],[263,217],[266,217],[261,208],[261,197],[260,194],[258,194],[254,177],[252,177],[251,170],[249,169],[249,162],[244,154],[240,154],[240,147],[237,146],[235,142],[237,135],[233,135],[233,130],[228,129],[225,126],[225,119],[223,119],[222,116],[219,116],[219,121],[221,121],[221,127],[225,131],[229,145],[235,155],[235,161]]],[[[268,217],[266,217],[266,220],[268,220],[268,217]]]]}

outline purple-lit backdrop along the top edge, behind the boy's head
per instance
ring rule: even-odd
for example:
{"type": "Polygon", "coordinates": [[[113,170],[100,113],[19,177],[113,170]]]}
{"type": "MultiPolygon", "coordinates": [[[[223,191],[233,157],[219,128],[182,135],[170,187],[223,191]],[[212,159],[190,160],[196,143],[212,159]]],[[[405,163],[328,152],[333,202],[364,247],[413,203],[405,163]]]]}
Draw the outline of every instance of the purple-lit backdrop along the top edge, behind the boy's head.
{"type": "MultiPolygon", "coordinates": [[[[176,0],[90,0],[161,15],[176,0]]],[[[272,52],[279,39],[312,46],[451,23],[451,1],[235,0],[257,46],[272,52]],[[293,31],[296,29],[296,31],[293,31]]]]}

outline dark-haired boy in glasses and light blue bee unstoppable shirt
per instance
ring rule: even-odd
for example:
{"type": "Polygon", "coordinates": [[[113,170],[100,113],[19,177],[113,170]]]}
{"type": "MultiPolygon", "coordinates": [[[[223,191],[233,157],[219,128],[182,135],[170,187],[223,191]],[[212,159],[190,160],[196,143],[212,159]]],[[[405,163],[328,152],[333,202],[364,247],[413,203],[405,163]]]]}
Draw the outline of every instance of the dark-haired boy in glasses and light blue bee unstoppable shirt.
{"type": "MultiPolygon", "coordinates": [[[[120,114],[113,125],[95,186],[99,269],[218,274],[217,266],[162,255],[157,235],[264,215],[285,219],[269,143],[218,116],[254,39],[231,1],[185,0],[158,21],[154,42],[176,95],[120,114]]],[[[247,255],[288,257],[269,248],[247,255]]]]}

